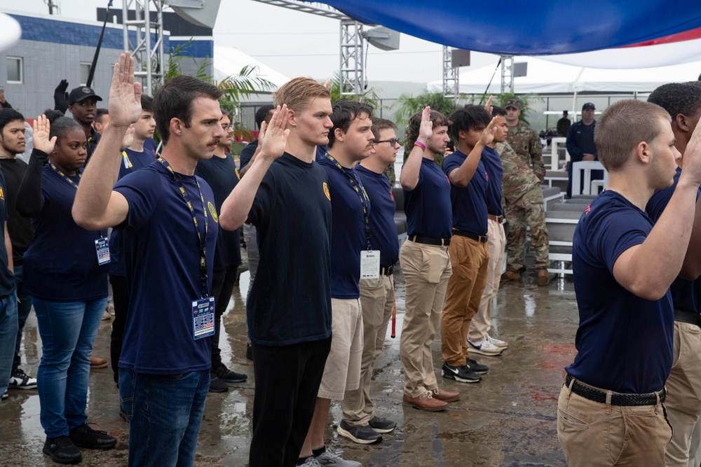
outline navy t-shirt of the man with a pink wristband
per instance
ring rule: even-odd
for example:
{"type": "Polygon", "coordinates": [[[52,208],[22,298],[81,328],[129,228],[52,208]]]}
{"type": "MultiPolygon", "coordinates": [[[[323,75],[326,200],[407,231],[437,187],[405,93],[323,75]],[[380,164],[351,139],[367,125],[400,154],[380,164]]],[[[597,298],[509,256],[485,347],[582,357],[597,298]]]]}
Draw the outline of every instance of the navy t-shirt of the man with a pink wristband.
{"type": "Polygon", "coordinates": [[[421,158],[416,187],[411,191],[404,190],[404,214],[407,214],[409,237],[451,237],[453,214],[450,190],[450,181],[435,162],[421,158]]]}

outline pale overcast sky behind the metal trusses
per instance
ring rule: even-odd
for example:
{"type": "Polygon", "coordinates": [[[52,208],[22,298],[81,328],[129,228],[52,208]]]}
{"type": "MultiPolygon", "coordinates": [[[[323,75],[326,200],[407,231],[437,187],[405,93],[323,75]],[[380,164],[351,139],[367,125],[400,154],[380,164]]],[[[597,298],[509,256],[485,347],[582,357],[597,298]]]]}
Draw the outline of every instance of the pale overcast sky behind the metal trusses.
{"type": "MultiPolygon", "coordinates": [[[[48,13],[47,0],[22,0],[21,11],[48,13]]],[[[65,18],[95,20],[95,9],[107,0],[53,0],[65,18]],[[86,8],[90,5],[90,8],[86,8]]],[[[0,0],[8,7],[9,0],[0,0]]],[[[13,6],[13,9],[16,8],[13,6]]],[[[122,8],[115,0],[113,8],[122,8]]],[[[165,11],[168,11],[166,9],[165,11]]],[[[236,47],[289,77],[324,78],[339,70],[339,20],[300,13],[254,0],[222,0],[214,29],[217,46],[236,47]]],[[[470,69],[494,63],[497,57],[472,54],[470,69]]],[[[463,69],[463,72],[468,69],[463,69]]],[[[426,83],[442,78],[442,47],[402,34],[400,50],[369,46],[366,78],[370,81],[426,83]]],[[[498,79],[498,78],[497,78],[498,79]]]]}

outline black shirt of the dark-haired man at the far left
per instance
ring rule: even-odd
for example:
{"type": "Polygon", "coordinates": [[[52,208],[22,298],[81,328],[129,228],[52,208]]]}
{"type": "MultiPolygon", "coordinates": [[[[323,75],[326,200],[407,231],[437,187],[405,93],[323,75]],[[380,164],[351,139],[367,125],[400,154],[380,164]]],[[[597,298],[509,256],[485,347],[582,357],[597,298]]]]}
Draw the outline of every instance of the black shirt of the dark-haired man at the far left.
{"type": "Polygon", "coordinates": [[[15,266],[22,264],[22,256],[32,244],[34,230],[32,220],[20,216],[17,211],[17,192],[22,177],[27,172],[27,162],[21,159],[0,159],[0,170],[5,176],[5,204],[7,207],[7,230],[12,242],[12,260],[15,266]]]}

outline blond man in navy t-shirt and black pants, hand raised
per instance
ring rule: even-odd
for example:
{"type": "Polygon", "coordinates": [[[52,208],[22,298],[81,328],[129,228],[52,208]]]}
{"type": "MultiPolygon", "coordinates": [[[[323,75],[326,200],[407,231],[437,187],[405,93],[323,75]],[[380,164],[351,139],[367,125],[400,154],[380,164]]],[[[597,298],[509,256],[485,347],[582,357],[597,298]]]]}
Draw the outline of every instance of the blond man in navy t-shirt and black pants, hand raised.
{"type": "Polygon", "coordinates": [[[294,78],[275,106],[260,153],[219,216],[226,230],[247,220],[258,232],[247,302],[256,381],[250,466],[297,464],[331,348],[331,197],[315,162],[334,126],[331,95],[294,78]]]}

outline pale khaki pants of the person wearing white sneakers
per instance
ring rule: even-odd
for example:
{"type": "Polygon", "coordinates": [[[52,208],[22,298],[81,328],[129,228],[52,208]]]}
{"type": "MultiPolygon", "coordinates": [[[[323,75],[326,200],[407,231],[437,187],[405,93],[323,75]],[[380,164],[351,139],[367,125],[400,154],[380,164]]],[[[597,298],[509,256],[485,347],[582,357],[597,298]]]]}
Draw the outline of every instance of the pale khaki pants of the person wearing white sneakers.
{"type": "Polygon", "coordinates": [[[501,282],[501,268],[504,265],[504,249],[506,246],[506,235],[504,226],[497,221],[487,220],[487,235],[489,240],[489,265],[486,267],[486,284],[482,292],[482,300],[479,301],[477,314],[472,316],[468,339],[472,342],[480,342],[486,339],[491,329],[491,302],[499,291],[501,282]]]}

